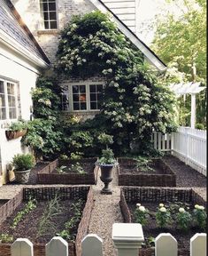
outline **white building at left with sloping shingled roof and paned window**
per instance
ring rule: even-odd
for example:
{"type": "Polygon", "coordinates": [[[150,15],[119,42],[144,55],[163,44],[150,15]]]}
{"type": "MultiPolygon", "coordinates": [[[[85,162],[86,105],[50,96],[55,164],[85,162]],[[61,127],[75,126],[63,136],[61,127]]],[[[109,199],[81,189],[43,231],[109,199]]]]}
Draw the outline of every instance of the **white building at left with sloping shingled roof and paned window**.
{"type": "Polygon", "coordinates": [[[49,64],[10,1],[0,0],[0,186],[6,181],[6,164],[24,150],[20,139],[6,139],[6,126],[18,118],[29,120],[31,88],[49,64]]]}

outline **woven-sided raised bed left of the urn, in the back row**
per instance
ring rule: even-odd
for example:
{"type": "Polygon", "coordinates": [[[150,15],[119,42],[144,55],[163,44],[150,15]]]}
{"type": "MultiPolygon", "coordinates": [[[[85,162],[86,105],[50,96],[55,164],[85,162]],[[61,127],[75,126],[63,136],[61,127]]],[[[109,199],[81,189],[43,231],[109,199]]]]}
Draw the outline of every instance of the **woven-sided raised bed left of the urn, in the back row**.
{"type": "Polygon", "coordinates": [[[56,159],[37,173],[37,180],[40,184],[96,184],[98,167],[95,163],[96,158],[56,159]],[[76,168],[77,163],[78,168],[76,168]],[[66,168],[62,169],[63,166],[66,168]],[[78,172],[79,170],[81,172],[78,172]]]}

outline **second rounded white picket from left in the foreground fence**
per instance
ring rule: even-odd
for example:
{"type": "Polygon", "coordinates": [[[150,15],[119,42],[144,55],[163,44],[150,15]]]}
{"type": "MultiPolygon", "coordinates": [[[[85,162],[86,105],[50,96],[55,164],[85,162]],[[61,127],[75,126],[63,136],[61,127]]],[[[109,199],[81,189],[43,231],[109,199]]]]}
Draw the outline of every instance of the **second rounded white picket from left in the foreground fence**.
{"type": "Polygon", "coordinates": [[[54,236],[45,245],[46,256],[68,256],[68,243],[59,236],[54,236]]]}

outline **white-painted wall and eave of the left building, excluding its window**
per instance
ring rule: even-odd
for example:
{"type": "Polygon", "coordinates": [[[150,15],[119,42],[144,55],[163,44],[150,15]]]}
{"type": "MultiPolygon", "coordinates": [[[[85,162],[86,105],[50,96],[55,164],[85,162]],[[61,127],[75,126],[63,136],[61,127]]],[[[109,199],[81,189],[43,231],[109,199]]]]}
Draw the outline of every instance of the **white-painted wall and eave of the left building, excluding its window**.
{"type": "MultiPolygon", "coordinates": [[[[38,70],[29,61],[0,43],[0,77],[12,79],[19,84],[19,114],[25,119],[30,118],[30,106],[32,106],[31,89],[35,87],[38,70]]],[[[7,140],[4,125],[9,120],[0,120],[0,186],[6,182],[6,164],[12,161],[15,154],[24,152],[20,139],[7,140]],[[2,177],[1,177],[2,176],[2,177]]]]}

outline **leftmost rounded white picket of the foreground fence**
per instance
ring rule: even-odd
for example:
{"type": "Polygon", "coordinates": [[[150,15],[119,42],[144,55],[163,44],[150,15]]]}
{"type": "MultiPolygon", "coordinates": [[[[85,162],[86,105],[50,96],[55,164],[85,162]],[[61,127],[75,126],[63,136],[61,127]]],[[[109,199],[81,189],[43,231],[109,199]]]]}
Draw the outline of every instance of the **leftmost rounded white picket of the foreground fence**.
{"type": "Polygon", "coordinates": [[[27,238],[18,238],[11,246],[12,256],[34,256],[33,244],[27,238]]]}

